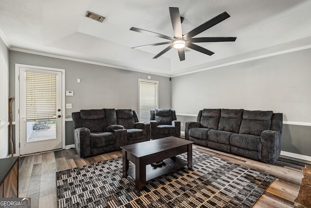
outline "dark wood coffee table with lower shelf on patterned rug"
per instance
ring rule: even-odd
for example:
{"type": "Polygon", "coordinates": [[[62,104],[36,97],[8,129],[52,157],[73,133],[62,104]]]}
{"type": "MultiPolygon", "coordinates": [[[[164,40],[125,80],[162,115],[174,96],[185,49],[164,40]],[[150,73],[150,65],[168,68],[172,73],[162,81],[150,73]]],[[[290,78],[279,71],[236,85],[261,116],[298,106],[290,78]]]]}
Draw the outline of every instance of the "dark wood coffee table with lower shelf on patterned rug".
{"type": "Polygon", "coordinates": [[[174,136],[122,146],[123,177],[130,175],[136,181],[139,191],[146,186],[146,181],[156,178],[183,166],[192,168],[192,141],[174,136]],[[187,152],[188,160],[175,157],[187,152]],[[150,164],[164,160],[165,165],[152,167],[150,164]],[[129,161],[135,167],[129,168],[129,161]]]}

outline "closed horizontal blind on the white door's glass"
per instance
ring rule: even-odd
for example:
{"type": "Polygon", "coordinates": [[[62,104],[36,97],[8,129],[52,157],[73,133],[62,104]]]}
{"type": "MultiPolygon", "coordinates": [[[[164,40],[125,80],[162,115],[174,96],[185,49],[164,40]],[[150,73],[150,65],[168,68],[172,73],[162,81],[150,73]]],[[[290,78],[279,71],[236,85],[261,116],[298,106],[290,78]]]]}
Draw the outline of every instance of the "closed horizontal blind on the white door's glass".
{"type": "Polygon", "coordinates": [[[26,120],[56,118],[56,75],[26,72],[26,120]]]}

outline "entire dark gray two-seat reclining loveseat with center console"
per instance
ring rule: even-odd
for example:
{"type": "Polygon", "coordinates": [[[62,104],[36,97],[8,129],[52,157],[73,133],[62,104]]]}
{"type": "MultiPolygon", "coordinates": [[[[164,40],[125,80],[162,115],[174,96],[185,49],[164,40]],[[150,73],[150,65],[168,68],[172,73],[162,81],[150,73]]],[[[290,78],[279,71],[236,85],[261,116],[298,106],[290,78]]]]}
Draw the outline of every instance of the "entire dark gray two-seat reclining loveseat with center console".
{"type": "Polygon", "coordinates": [[[74,145],[81,158],[150,140],[150,124],[139,123],[131,109],[81,110],[72,113],[72,121],[74,145]]]}

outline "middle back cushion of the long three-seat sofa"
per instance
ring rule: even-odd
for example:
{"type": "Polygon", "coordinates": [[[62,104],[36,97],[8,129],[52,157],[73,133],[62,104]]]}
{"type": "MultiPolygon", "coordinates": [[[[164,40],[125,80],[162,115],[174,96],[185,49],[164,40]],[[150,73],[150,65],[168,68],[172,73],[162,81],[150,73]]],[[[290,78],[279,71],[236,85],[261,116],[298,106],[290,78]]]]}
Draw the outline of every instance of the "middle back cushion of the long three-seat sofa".
{"type": "Polygon", "coordinates": [[[222,109],[218,130],[239,133],[243,109],[222,109]]]}

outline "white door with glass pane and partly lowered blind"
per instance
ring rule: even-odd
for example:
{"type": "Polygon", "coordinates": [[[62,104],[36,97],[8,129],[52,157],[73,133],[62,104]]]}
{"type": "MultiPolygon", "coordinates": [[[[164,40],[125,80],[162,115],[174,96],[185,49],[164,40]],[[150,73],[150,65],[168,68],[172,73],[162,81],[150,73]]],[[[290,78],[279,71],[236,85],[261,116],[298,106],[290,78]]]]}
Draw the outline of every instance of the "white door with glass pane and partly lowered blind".
{"type": "Polygon", "coordinates": [[[19,67],[20,155],[62,148],[62,72],[19,67]]]}

